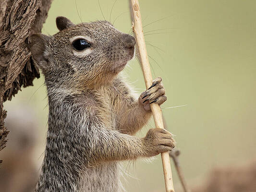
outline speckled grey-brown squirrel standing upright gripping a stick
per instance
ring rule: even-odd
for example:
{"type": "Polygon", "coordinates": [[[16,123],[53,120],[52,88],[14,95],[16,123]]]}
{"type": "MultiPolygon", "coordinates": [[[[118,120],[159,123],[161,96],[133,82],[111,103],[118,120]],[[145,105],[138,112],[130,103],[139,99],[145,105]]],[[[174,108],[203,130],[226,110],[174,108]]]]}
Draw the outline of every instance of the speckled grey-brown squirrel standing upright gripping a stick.
{"type": "Polygon", "coordinates": [[[36,192],[120,192],[123,160],[170,151],[165,129],[135,137],[166,101],[158,77],[139,98],[120,73],[134,58],[135,39],[108,21],[73,24],[56,18],[53,36],[33,35],[33,61],[45,77],[49,103],[45,156],[36,192]]]}

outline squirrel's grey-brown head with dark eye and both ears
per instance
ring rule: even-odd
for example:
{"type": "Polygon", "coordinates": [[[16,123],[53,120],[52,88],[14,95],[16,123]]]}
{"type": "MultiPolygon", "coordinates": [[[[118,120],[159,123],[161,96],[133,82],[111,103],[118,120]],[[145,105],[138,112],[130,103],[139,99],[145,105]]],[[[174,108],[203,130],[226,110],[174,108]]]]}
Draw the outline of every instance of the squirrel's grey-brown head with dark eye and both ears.
{"type": "Polygon", "coordinates": [[[59,33],[33,35],[33,60],[47,85],[93,89],[112,79],[134,57],[135,39],[107,21],[73,24],[57,17],[59,33]]]}

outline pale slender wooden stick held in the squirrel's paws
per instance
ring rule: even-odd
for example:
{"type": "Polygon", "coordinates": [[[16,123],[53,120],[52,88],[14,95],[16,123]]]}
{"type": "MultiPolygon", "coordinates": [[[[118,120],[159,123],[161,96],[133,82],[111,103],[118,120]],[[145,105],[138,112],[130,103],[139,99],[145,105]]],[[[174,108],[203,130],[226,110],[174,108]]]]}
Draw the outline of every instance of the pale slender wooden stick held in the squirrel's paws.
{"type": "MultiPolygon", "coordinates": [[[[133,18],[134,18],[133,30],[134,30],[136,43],[137,43],[137,47],[140,55],[141,67],[144,75],[146,88],[148,89],[152,84],[152,74],[151,74],[150,65],[149,65],[147,52],[146,52],[146,43],[143,35],[143,27],[141,22],[141,14],[140,14],[138,0],[131,0],[131,5],[133,10],[133,18]]],[[[161,108],[156,103],[150,104],[150,108],[153,113],[156,128],[164,129],[161,108]]],[[[161,153],[161,157],[162,157],[166,192],[174,192],[169,153],[168,152],[161,153]]]]}

